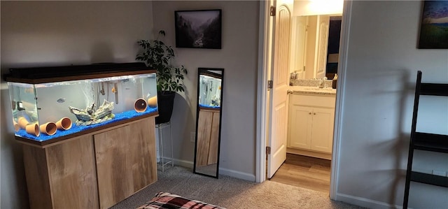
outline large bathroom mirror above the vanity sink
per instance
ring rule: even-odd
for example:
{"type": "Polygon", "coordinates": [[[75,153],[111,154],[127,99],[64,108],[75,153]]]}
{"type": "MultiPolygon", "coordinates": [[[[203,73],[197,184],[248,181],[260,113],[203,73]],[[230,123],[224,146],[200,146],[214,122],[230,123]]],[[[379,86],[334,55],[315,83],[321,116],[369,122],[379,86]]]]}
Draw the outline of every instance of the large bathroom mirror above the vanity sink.
{"type": "Polygon", "coordinates": [[[291,21],[291,77],[331,80],[339,62],[342,14],[294,16],[291,21]]]}

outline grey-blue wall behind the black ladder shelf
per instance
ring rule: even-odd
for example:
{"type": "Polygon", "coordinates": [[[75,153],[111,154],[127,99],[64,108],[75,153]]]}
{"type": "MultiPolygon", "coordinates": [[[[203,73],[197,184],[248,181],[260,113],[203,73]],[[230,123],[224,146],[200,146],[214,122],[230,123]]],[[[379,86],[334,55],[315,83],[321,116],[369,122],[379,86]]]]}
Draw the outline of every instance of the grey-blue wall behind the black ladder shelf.
{"type": "MultiPolygon", "coordinates": [[[[416,48],[422,6],[421,1],[353,1],[339,200],[371,208],[402,206],[416,71],[423,71],[423,82],[448,83],[448,50],[416,48]]],[[[417,131],[448,134],[446,98],[426,98],[419,113],[417,131]]],[[[415,170],[448,170],[447,154],[416,155],[415,170]]],[[[409,207],[446,208],[447,196],[447,188],[412,183],[409,207]]]]}

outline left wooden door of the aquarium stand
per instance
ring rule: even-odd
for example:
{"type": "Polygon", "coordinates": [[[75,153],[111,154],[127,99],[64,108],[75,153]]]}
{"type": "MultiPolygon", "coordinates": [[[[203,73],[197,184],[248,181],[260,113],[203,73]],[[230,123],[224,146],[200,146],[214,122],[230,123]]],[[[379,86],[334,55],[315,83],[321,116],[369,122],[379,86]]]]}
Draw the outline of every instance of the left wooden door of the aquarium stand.
{"type": "Polygon", "coordinates": [[[92,136],[46,149],[53,208],[98,208],[92,136]]]}

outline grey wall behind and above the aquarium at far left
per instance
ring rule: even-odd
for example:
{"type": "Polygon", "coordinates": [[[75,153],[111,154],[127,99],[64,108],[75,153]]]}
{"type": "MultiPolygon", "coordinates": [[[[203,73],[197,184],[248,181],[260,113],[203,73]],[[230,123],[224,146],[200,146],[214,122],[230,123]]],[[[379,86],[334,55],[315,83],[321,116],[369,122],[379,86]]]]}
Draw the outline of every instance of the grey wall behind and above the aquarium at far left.
{"type": "MultiPolygon", "coordinates": [[[[134,62],[151,1],[1,1],[1,74],[12,67],[134,62]]],[[[28,208],[22,149],[1,81],[1,206],[28,208]]]]}

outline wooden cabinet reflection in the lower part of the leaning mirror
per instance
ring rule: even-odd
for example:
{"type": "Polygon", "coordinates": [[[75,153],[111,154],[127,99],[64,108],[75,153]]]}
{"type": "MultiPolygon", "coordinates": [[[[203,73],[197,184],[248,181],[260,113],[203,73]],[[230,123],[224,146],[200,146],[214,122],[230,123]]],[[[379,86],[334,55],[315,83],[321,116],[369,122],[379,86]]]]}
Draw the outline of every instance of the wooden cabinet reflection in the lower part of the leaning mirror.
{"type": "Polygon", "coordinates": [[[218,138],[220,110],[201,109],[197,129],[196,166],[207,166],[218,162],[218,138]]]}

